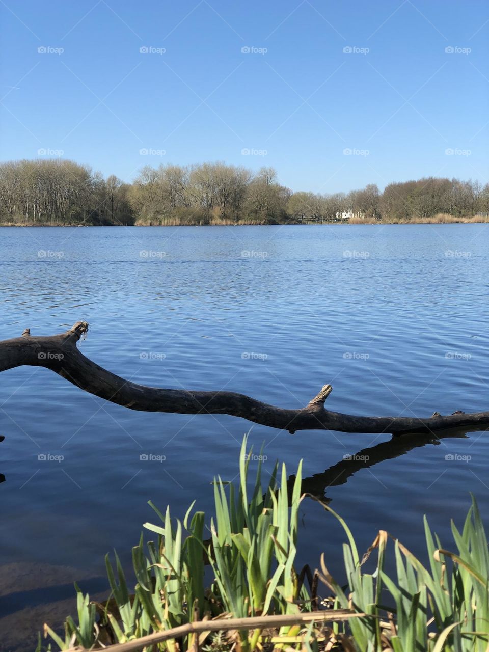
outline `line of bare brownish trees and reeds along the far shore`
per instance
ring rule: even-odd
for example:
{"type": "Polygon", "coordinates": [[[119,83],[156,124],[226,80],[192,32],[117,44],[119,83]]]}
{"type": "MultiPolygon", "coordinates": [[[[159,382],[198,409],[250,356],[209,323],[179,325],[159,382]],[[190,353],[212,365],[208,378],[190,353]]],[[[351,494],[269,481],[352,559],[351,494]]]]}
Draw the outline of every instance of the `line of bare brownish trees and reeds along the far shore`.
{"type": "Polygon", "coordinates": [[[351,192],[292,192],[273,168],[208,162],[144,166],[132,183],[70,160],[0,164],[4,226],[301,224],[331,222],[350,210],[350,224],[489,221],[489,184],[429,177],[369,184],[351,192]]]}

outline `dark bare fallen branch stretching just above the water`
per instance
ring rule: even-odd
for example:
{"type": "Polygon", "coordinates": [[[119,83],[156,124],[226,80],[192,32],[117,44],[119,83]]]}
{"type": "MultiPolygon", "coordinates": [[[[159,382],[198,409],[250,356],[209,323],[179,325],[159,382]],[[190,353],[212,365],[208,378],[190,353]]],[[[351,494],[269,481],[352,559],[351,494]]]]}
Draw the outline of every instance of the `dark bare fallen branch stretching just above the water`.
{"type": "Polygon", "coordinates": [[[446,428],[483,430],[489,426],[489,412],[432,417],[360,417],[331,412],[324,402],[331,393],[325,385],[304,408],[283,409],[234,392],[201,392],[186,389],[145,387],[120,378],[81,353],[76,343],[88,331],[78,321],[69,331],[50,337],[34,337],[29,329],[22,336],[0,342],[0,372],[26,364],[52,370],[90,394],[125,408],[146,412],[178,414],[227,414],[254,423],[288,430],[336,430],[362,433],[434,433],[446,428]]]}

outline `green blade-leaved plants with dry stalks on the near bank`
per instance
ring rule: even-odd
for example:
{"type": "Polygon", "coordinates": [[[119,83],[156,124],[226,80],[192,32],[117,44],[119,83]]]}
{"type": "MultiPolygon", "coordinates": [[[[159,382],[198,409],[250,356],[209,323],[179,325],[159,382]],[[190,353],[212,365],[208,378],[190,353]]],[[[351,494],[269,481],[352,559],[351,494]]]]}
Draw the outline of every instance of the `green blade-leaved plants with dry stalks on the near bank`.
{"type": "Polygon", "coordinates": [[[338,520],[346,542],[344,569],[328,569],[323,554],[321,570],[313,576],[309,567],[301,572],[295,567],[301,463],[291,494],[285,466],[279,471],[275,465],[263,495],[262,456],[247,452],[246,445],[244,437],[238,486],[220,477],[213,482],[210,522],[203,512],[192,514],[194,503],[182,524],[171,518],[170,507],[162,514],[150,502],[161,523],[144,527],[158,540],[147,542],[145,552],[141,535],[132,549],[134,589],[117,554],[115,569],[107,556],[109,599],[91,602],[76,587],[76,619],[67,618],[61,635],[45,625],[44,638],[50,640],[39,636],[37,652],[46,645],[100,649],[128,642],[131,650],[168,652],[486,651],[489,551],[475,499],[462,531],[452,523],[457,552],[443,548],[424,519],[425,567],[384,530],[361,556],[344,520],[316,498],[327,518],[338,520]],[[250,461],[256,459],[250,491],[250,461]],[[394,579],[387,567],[395,569],[394,579]],[[231,629],[229,618],[241,620],[229,623],[231,629]],[[176,627],[180,629],[173,631],[176,627]],[[143,636],[153,638],[138,644],[143,636]]]}

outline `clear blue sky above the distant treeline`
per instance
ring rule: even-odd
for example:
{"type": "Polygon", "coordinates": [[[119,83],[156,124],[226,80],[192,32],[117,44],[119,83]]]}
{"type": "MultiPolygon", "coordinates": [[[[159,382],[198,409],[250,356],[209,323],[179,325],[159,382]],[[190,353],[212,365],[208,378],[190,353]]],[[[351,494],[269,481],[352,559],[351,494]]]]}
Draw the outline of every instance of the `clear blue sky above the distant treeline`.
{"type": "Polygon", "coordinates": [[[62,151],[125,181],[148,163],[224,160],[316,192],[488,181],[486,0],[0,0],[0,12],[2,160],[62,151]]]}

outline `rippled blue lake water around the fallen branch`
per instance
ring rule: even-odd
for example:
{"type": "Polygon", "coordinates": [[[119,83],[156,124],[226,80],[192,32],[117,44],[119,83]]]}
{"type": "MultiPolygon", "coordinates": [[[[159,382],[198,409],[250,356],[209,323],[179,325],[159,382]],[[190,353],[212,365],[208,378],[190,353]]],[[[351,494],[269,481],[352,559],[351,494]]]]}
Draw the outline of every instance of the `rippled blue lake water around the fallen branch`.
{"type": "MultiPolygon", "coordinates": [[[[145,385],[228,389],[299,408],[331,383],[337,411],[482,411],[488,282],[481,224],[2,228],[0,339],[85,319],[83,353],[145,385]]],[[[75,578],[94,595],[104,589],[103,556],[115,547],[128,561],[153,518],[148,499],[170,503],[175,516],[196,497],[209,511],[213,476],[235,477],[250,427],[132,412],[40,368],[1,374],[0,405],[5,649],[29,649],[31,630],[72,608],[75,578]]],[[[470,491],[489,522],[485,433],[414,441],[405,454],[389,436],[254,426],[250,439],[265,441],[266,469],[278,458],[292,475],[304,458],[304,488],[330,499],[364,548],[382,527],[422,556],[424,513],[451,544],[449,519],[460,522],[470,491]],[[344,461],[357,452],[370,460],[344,461]]],[[[301,561],[317,565],[326,552],[331,568],[340,563],[333,518],[306,500],[302,522],[301,561]]]]}

